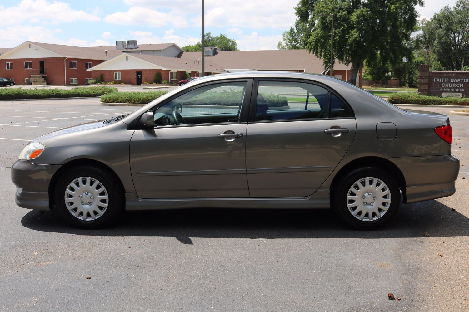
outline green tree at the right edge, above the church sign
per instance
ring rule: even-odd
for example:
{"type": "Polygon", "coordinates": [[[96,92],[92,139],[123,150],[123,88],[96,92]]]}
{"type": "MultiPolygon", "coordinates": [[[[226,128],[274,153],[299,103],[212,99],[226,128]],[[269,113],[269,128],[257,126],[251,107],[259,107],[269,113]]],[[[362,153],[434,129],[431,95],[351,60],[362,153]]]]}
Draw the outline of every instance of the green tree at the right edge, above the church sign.
{"type": "Polygon", "coordinates": [[[429,21],[423,21],[416,41],[429,56],[428,64],[439,61],[443,67],[462,69],[469,65],[469,0],[445,6],[429,21]]]}

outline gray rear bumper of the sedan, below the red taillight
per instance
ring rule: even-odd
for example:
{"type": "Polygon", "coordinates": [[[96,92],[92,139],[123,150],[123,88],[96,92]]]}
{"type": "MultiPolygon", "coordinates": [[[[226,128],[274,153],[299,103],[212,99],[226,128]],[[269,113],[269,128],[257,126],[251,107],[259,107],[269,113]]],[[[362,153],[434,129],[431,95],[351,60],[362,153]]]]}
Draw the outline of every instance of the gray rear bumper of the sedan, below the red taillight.
{"type": "Polygon", "coordinates": [[[459,158],[453,155],[390,158],[406,182],[407,204],[451,196],[459,174],[459,158]]]}

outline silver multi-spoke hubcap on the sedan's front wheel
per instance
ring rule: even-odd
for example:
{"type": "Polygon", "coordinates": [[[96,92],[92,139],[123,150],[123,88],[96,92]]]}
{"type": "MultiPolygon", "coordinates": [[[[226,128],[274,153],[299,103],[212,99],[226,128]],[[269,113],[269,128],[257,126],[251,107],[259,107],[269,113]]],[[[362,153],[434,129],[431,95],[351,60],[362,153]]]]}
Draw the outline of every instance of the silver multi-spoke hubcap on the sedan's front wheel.
{"type": "Polygon", "coordinates": [[[65,190],[65,205],[80,220],[98,219],[106,212],[108,204],[106,188],[94,178],[76,178],[65,190]]]}

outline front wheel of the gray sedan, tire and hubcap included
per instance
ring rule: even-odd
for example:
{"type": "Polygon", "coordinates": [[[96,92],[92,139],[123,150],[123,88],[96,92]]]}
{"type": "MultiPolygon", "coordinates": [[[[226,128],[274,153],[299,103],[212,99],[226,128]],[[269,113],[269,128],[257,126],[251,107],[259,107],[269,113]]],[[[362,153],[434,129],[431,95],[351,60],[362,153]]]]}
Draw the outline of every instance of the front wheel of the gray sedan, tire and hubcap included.
{"type": "Polygon", "coordinates": [[[55,202],[69,223],[98,228],[111,224],[120,215],[125,199],[113,174],[96,166],[79,166],[61,176],[55,202]]]}

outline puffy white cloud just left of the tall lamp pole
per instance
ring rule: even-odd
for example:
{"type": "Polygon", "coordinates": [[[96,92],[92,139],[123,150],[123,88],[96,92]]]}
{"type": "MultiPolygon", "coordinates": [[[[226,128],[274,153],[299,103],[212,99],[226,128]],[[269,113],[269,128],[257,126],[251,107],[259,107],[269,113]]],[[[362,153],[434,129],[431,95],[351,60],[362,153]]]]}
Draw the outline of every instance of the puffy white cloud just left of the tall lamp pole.
{"type": "Polygon", "coordinates": [[[130,7],[127,12],[116,12],[107,15],[104,21],[120,25],[162,27],[171,23],[174,27],[187,27],[187,22],[182,15],[160,12],[146,7],[130,7]]]}

